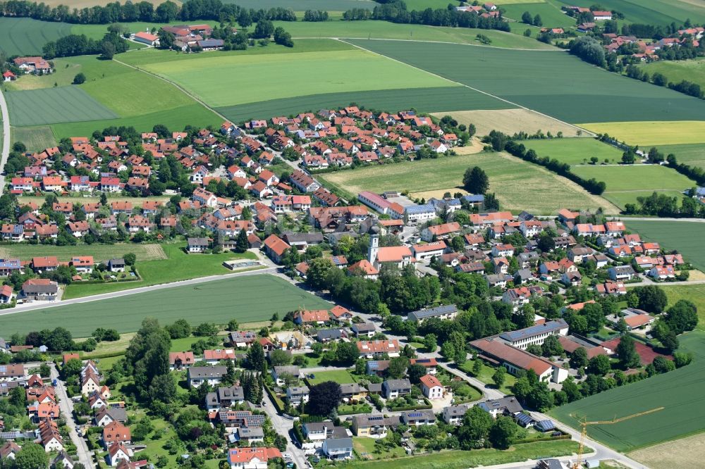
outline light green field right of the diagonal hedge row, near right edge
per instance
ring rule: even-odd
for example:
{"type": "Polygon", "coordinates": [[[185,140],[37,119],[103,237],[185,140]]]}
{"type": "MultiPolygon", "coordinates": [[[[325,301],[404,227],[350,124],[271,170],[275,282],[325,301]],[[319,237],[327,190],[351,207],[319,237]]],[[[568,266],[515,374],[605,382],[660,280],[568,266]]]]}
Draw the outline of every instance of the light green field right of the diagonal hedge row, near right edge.
{"type": "Polygon", "coordinates": [[[583,165],[572,168],[572,172],[591,179],[603,181],[607,189],[602,194],[616,206],[635,204],[637,197],[650,196],[654,191],[668,196],[681,196],[695,182],[675,170],[661,165],[583,165]]]}

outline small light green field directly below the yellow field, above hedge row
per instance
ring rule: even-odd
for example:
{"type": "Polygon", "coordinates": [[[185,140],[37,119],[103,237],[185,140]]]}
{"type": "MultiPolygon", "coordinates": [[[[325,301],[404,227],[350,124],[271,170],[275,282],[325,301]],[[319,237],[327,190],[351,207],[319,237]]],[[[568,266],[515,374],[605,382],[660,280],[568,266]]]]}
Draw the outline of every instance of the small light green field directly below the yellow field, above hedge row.
{"type": "Polygon", "coordinates": [[[614,146],[604,144],[597,139],[570,138],[552,140],[526,140],[522,142],[527,149],[533,149],[539,156],[549,156],[569,165],[582,165],[590,158],[596,156],[600,163],[608,159],[610,163],[618,163],[622,158],[622,151],[614,146]]]}

